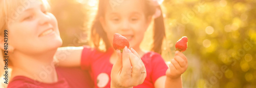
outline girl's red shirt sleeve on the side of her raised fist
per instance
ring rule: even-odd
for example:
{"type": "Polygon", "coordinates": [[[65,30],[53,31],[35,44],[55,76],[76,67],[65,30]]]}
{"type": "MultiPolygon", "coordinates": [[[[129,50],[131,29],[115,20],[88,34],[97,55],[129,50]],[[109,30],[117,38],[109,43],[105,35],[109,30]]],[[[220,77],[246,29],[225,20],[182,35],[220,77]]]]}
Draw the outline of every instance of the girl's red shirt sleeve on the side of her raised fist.
{"type": "Polygon", "coordinates": [[[151,78],[153,80],[153,83],[155,84],[156,80],[164,76],[166,73],[166,70],[168,69],[167,65],[165,64],[165,61],[163,60],[162,56],[158,53],[154,53],[152,55],[152,75],[151,78]]]}

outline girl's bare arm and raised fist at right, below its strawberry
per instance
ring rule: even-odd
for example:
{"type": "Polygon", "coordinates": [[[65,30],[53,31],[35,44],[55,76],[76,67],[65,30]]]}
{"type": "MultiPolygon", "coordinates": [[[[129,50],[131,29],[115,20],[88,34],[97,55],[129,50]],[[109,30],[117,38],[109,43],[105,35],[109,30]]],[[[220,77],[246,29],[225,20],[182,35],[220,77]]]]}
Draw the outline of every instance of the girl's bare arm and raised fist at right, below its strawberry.
{"type": "Polygon", "coordinates": [[[155,87],[182,88],[181,74],[187,69],[187,58],[181,52],[176,51],[171,62],[166,71],[166,76],[159,77],[154,84],[155,87]]]}

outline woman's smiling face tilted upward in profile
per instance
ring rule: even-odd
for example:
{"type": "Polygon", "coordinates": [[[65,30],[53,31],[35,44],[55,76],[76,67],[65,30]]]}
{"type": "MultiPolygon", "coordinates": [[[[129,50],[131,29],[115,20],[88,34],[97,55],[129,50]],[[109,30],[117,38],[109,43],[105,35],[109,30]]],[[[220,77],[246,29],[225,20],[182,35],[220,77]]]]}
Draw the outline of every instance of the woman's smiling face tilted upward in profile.
{"type": "Polygon", "coordinates": [[[15,51],[35,54],[57,49],[62,45],[57,20],[41,1],[19,6],[16,17],[8,26],[9,46],[15,51]],[[23,9],[20,9],[22,8],[23,9]],[[21,11],[20,11],[21,10],[21,11]]]}

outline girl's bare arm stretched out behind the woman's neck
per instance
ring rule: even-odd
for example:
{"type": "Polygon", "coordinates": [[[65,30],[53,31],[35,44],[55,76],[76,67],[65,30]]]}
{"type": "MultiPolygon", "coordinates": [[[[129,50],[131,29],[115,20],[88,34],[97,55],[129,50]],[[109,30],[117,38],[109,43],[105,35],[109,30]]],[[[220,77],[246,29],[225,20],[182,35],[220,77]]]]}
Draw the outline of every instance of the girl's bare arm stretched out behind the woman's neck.
{"type": "Polygon", "coordinates": [[[79,67],[83,47],[60,47],[55,53],[57,65],[61,67],[79,67]]]}

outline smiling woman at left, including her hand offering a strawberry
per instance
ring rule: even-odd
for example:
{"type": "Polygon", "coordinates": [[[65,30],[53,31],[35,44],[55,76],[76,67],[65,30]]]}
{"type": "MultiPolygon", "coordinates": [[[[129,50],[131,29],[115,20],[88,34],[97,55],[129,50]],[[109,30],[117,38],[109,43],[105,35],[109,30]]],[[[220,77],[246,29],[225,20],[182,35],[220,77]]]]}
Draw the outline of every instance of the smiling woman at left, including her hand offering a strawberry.
{"type": "MultiPolygon", "coordinates": [[[[48,12],[47,1],[1,0],[0,4],[0,45],[8,43],[8,65],[12,67],[8,87],[75,87],[71,84],[76,81],[66,80],[53,64],[62,40],[57,20],[48,12]],[[4,33],[8,33],[9,40],[4,39],[7,35],[4,33]]],[[[113,66],[116,69],[111,73],[112,87],[130,87],[144,81],[144,74],[131,69],[131,66],[138,66],[139,70],[145,68],[137,63],[142,61],[136,52],[126,48],[118,58],[113,66]]],[[[3,66],[3,60],[0,64],[3,66]]]]}

